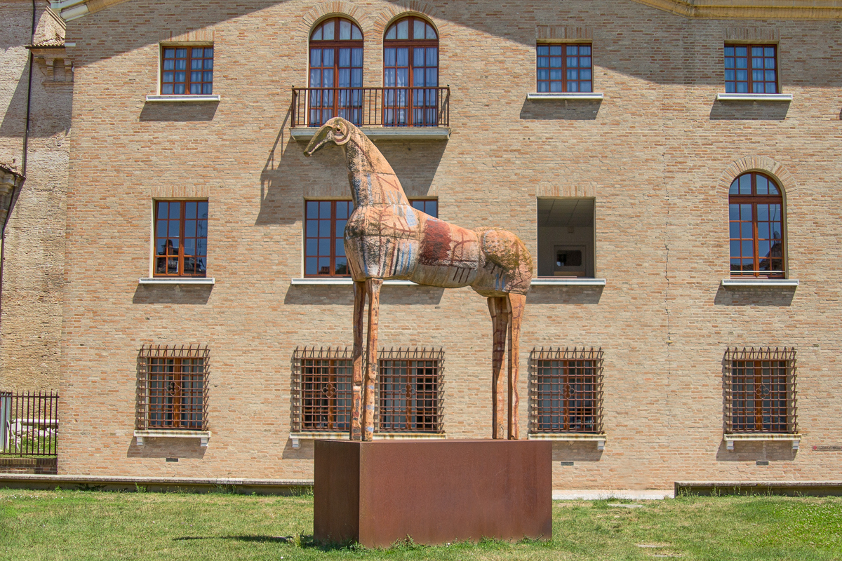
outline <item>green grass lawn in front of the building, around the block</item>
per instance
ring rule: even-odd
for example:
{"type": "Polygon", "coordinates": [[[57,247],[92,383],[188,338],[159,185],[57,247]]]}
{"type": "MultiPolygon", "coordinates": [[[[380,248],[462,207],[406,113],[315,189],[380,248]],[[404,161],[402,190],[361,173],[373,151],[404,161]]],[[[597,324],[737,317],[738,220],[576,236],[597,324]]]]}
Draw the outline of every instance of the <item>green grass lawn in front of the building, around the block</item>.
{"type": "Polygon", "coordinates": [[[3,559],[842,559],[842,498],[556,501],[552,541],[312,543],[312,497],[0,490],[3,559]]]}

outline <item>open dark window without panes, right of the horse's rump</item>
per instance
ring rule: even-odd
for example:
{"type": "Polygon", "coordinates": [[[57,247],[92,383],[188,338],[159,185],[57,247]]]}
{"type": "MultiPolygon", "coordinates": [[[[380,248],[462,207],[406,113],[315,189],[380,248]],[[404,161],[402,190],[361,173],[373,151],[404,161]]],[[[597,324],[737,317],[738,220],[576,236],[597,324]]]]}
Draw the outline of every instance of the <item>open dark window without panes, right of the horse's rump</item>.
{"type": "Polygon", "coordinates": [[[538,276],[594,278],[593,198],[538,199],[538,276]]]}

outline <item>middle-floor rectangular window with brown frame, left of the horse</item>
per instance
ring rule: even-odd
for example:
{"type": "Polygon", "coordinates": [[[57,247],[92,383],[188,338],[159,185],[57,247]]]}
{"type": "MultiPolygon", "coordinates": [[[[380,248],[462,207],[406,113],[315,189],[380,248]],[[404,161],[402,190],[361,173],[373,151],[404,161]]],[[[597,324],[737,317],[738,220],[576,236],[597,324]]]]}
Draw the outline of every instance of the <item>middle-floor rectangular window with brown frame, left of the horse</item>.
{"type": "Polygon", "coordinates": [[[155,201],[155,276],[205,277],[207,201],[155,201]]]}

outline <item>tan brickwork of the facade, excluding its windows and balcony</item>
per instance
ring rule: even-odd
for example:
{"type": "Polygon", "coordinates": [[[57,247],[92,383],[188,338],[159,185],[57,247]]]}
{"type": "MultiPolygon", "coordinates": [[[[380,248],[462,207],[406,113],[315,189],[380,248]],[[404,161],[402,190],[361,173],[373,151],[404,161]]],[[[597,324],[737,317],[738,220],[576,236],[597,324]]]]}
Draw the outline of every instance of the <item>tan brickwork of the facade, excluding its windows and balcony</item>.
{"type": "MultiPolygon", "coordinates": [[[[296,448],[289,435],[291,357],[304,345],[349,346],[353,298],[349,286],[290,279],[302,274],[305,198],[349,198],[349,188],[338,151],[305,160],[304,145],[291,140],[290,88],[307,83],[302,21],[349,4],[365,33],[365,86],[381,86],[376,29],[422,3],[125,2],[68,22],[77,46],[61,473],[312,477],[312,442],[296,448]],[[147,103],[157,91],[158,41],[199,32],[214,38],[221,101],[147,103]],[[185,190],[209,199],[216,284],[141,285],[152,198],[185,190]],[[163,438],[136,446],[144,343],[210,347],[207,447],[163,438]]],[[[378,142],[408,197],[438,197],[440,218],[465,227],[512,230],[533,254],[537,197],[596,200],[596,276],[605,287],[534,287],[521,335],[524,369],[532,347],[601,347],[605,356],[605,449],[554,444],[555,487],[834,479],[839,453],[813,446],[842,442],[839,22],[688,19],[628,0],[424,5],[446,29],[440,83],[450,84],[452,133],[378,142]],[[536,36],[568,33],[593,41],[594,89],[605,99],[527,101],[536,36]],[[779,38],[791,103],[715,101],[724,92],[723,42],[737,36],[779,38]],[[788,275],[797,288],[721,286],[729,274],[721,182],[729,170],[759,165],[746,158],[774,162],[769,171],[787,189],[788,275]],[[728,346],[797,349],[800,450],[789,442],[726,449],[728,346]]],[[[384,345],[444,348],[448,437],[488,437],[485,299],[467,288],[386,286],[381,304],[384,345]]]]}

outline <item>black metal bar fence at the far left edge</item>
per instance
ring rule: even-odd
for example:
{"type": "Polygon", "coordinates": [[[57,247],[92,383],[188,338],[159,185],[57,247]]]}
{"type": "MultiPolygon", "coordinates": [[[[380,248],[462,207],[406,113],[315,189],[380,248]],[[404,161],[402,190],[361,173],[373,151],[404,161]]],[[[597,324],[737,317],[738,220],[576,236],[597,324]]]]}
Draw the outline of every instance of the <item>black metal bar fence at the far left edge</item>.
{"type": "Polygon", "coordinates": [[[55,456],[58,394],[0,392],[0,455],[55,456]]]}

